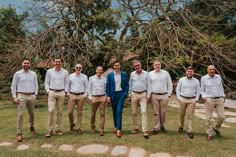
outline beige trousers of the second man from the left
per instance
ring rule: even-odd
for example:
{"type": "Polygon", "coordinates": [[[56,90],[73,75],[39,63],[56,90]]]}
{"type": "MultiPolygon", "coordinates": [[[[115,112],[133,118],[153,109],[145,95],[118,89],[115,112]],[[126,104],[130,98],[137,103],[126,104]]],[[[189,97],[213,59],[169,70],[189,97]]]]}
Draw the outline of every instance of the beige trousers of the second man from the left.
{"type": "Polygon", "coordinates": [[[53,130],[53,115],[55,110],[57,110],[57,119],[55,130],[59,130],[62,120],[62,110],[64,107],[65,92],[56,92],[50,90],[48,93],[48,130],[53,130]]]}

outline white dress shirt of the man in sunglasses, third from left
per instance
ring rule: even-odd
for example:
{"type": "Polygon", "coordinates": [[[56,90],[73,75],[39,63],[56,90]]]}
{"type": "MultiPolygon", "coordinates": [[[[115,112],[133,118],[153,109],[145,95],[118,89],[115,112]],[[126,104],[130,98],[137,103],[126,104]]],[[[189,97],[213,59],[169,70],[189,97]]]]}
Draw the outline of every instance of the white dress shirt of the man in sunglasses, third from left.
{"type": "Polygon", "coordinates": [[[76,73],[69,75],[69,85],[68,85],[68,92],[73,93],[85,93],[87,92],[88,87],[88,77],[83,73],[77,75],[76,73]]]}

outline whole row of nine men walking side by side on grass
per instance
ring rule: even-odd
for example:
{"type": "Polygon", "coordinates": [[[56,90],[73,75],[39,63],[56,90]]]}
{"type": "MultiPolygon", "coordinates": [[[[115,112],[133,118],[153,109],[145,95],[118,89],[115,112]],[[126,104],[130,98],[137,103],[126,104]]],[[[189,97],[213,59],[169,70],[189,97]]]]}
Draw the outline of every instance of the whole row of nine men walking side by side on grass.
{"type": "MultiPolygon", "coordinates": [[[[173,85],[169,73],[161,69],[160,61],[154,61],[154,70],[147,72],[142,69],[140,61],[134,61],[135,71],[130,74],[121,71],[119,62],[114,62],[113,71],[104,77],[102,66],[96,68],[96,74],[88,77],[82,73],[82,65],[75,66],[75,72],[70,74],[62,68],[60,58],[54,60],[54,68],[47,70],[45,77],[45,89],[48,94],[48,132],[45,137],[51,137],[53,130],[58,135],[63,135],[61,130],[62,111],[65,96],[68,95],[68,117],[70,131],[75,127],[76,131],[82,133],[82,113],[86,97],[91,101],[91,131],[97,132],[95,126],[96,111],[100,110],[100,136],[104,136],[105,108],[106,103],[111,103],[114,121],[114,133],[118,138],[122,136],[122,110],[126,98],[131,100],[131,113],[133,127],[131,132],[137,133],[139,125],[137,120],[137,108],[140,106],[142,117],[142,132],[144,138],[149,138],[147,104],[151,102],[153,108],[153,130],[152,135],[158,132],[166,133],[165,115],[169,98],[172,94],[173,85]],[[77,106],[77,124],[74,122],[73,112],[77,106]],[[54,113],[56,112],[55,128],[53,127],[54,113]]],[[[21,142],[23,128],[23,113],[28,108],[30,132],[37,134],[34,128],[34,106],[38,95],[38,80],[35,72],[30,70],[30,61],[24,59],[22,70],[14,74],[11,91],[14,102],[17,104],[17,141],[21,142]]],[[[188,110],[188,136],[194,138],[192,121],[196,102],[200,93],[205,100],[207,139],[212,138],[212,129],[218,136],[222,136],[219,128],[224,120],[224,90],[222,79],[215,74],[215,67],[210,65],[208,74],[199,81],[193,77],[192,67],[186,69],[186,76],[178,82],[176,95],[180,104],[180,127],[178,132],[184,131],[184,117],[188,110]],[[200,89],[201,88],[201,89],[200,89]],[[212,112],[216,109],[218,119],[212,126],[212,112]]]]}

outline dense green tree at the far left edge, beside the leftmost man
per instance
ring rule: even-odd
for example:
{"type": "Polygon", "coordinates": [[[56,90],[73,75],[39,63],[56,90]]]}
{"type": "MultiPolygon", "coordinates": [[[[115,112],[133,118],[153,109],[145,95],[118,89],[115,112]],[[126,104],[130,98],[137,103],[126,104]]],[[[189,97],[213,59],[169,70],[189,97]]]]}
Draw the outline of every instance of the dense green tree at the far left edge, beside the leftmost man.
{"type": "Polygon", "coordinates": [[[23,21],[27,13],[17,15],[16,10],[8,6],[0,8],[0,91],[7,88],[7,81],[12,77],[21,61],[20,55],[24,52],[26,32],[23,21]],[[10,69],[10,70],[9,70],[10,69]]]}

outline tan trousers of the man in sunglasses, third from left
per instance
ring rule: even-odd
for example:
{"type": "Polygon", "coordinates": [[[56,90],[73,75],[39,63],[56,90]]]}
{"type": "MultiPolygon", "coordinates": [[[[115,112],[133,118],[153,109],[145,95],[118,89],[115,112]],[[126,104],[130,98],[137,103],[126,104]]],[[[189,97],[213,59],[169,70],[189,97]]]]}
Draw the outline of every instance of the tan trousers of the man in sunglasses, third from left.
{"type": "Polygon", "coordinates": [[[70,94],[68,99],[68,117],[70,125],[74,124],[74,109],[77,106],[77,129],[81,129],[82,116],[83,116],[83,106],[84,106],[84,95],[70,94]]]}

